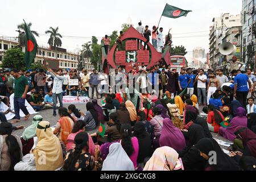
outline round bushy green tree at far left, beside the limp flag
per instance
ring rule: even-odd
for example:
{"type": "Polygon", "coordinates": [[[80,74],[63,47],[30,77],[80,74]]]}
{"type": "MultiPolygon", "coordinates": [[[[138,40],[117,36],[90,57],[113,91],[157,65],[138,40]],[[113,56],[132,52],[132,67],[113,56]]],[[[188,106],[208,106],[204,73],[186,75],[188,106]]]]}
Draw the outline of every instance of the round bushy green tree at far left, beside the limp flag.
{"type": "Polygon", "coordinates": [[[5,52],[2,61],[3,68],[26,69],[24,52],[18,47],[10,48],[5,52]]]}

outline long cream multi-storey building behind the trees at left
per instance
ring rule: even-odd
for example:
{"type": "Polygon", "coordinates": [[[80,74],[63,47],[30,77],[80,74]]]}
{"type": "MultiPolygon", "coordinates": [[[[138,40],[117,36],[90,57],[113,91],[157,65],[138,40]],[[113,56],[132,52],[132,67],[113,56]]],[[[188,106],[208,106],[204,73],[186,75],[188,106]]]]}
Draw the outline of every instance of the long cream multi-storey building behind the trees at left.
{"type": "MultiPolygon", "coordinates": [[[[3,38],[0,36],[0,56],[4,55],[7,49],[13,48],[14,46],[18,46],[18,40],[14,38],[3,38]]],[[[22,51],[25,52],[25,47],[22,46],[22,51]]],[[[35,62],[40,62],[42,64],[43,60],[47,60],[49,63],[49,67],[52,69],[63,68],[63,69],[77,69],[78,60],[79,60],[79,52],[69,52],[67,49],[57,47],[56,50],[54,47],[44,47],[39,46],[38,52],[34,59],[35,62]]],[[[88,71],[92,71],[94,69],[92,63],[90,63],[90,59],[84,59],[85,61],[85,69],[88,71]]]]}

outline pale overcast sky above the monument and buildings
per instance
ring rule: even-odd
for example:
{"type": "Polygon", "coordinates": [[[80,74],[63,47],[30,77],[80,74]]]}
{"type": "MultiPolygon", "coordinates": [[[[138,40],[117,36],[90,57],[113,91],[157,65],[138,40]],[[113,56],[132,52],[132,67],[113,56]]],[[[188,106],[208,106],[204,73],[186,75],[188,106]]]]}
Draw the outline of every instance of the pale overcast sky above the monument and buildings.
{"type": "Polygon", "coordinates": [[[36,38],[40,46],[46,46],[48,35],[42,35],[50,26],[59,26],[59,33],[64,36],[84,38],[63,38],[63,48],[74,51],[89,42],[94,35],[100,39],[113,30],[121,30],[121,24],[130,17],[134,27],[141,20],[152,29],[157,25],[164,6],[168,3],[184,10],[192,10],[186,17],[171,19],[162,17],[159,27],[164,34],[172,28],[174,46],[183,45],[188,54],[195,47],[209,47],[209,26],[213,17],[222,13],[240,14],[242,0],[8,0],[1,1],[0,36],[18,36],[16,26],[26,20],[31,22],[31,30],[37,31],[36,38]],[[196,32],[192,33],[191,32],[196,32]]]}

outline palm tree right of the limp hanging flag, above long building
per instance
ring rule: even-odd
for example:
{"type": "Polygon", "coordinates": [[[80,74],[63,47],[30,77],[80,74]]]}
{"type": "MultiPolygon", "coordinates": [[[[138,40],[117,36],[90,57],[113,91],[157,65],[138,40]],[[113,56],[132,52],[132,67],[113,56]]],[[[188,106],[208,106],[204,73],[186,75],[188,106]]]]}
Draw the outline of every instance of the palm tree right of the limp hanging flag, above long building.
{"type": "Polygon", "coordinates": [[[55,48],[55,54],[56,54],[56,59],[57,59],[56,49],[57,49],[57,47],[61,47],[61,45],[62,45],[62,42],[61,42],[61,39],[60,39],[60,38],[62,38],[62,36],[58,33],[59,27],[57,27],[57,28],[49,27],[49,29],[50,30],[46,31],[46,34],[50,34],[48,44],[55,48]]]}

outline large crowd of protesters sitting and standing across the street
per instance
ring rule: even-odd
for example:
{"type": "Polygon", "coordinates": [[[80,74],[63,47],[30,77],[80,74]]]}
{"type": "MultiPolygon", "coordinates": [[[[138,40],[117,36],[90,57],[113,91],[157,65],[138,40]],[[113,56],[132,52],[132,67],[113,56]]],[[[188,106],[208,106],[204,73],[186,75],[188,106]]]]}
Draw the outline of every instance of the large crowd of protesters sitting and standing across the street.
{"type": "MultiPolygon", "coordinates": [[[[158,27],[153,29],[155,34],[158,27]]],[[[163,63],[135,66],[130,74],[122,67],[109,75],[52,71],[48,64],[47,72],[1,71],[0,103],[9,107],[13,94],[12,123],[22,123],[20,109],[24,121],[30,117],[25,101],[39,113],[20,138],[12,132],[22,127],[8,122],[1,110],[0,170],[255,170],[256,78],[251,69],[233,66],[231,75],[222,69],[178,73],[163,63]],[[69,85],[71,79],[78,85],[69,85]],[[73,104],[64,107],[65,95],[90,96],[90,101],[80,111],[73,104]],[[46,108],[58,114],[55,127],[40,115],[46,108]],[[97,131],[102,126],[104,135],[97,131]],[[233,143],[228,154],[213,133],[233,143]],[[210,151],[216,152],[216,163],[208,161],[210,151]]]]}

